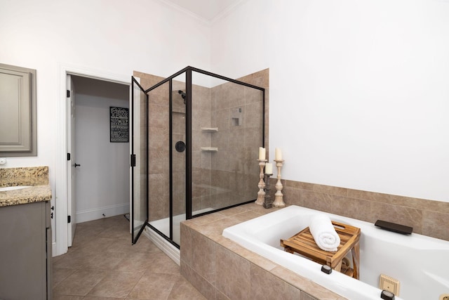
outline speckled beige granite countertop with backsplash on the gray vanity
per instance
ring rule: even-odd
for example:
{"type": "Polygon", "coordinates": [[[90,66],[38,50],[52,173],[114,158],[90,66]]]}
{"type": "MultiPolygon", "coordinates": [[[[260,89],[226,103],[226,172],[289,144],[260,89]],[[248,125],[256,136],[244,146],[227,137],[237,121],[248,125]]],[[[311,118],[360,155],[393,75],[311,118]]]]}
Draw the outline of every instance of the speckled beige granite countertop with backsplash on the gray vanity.
{"type": "Polygon", "coordinates": [[[48,167],[0,169],[0,188],[29,186],[0,192],[0,207],[51,200],[48,167]]]}

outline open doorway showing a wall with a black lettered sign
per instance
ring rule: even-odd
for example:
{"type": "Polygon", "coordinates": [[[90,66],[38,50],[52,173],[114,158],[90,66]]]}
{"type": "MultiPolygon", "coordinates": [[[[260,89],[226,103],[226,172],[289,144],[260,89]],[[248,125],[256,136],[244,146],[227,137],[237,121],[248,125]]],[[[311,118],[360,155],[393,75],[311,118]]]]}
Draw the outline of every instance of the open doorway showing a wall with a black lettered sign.
{"type": "MultiPolygon", "coordinates": [[[[129,85],[111,81],[67,75],[72,79],[72,115],[74,125],[67,117],[67,141],[72,136],[71,151],[76,161],[70,162],[69,172],[74,178],[69,223],[68,246],[72,244],[76,223],[92,221],[119,214],[128,214],[130,195],[129,119],[119,124],[117,138],[113,111],[128,115],[129,85]],[[112,130],[111,124],[114,124],[112,130]],[[72,127],[72,128],[71,128],[72,127]],[[126,134],[128,133],[128,134],[126,134]],[[72,230],[71,228],[72,227],[72,230]],[[72,234],[70,234],[72,233],[72,234]],[[72,235],[72,236],[71,236],[72,235]]],[[[68,183],[70,185],[70,183],[68,183]]]]}

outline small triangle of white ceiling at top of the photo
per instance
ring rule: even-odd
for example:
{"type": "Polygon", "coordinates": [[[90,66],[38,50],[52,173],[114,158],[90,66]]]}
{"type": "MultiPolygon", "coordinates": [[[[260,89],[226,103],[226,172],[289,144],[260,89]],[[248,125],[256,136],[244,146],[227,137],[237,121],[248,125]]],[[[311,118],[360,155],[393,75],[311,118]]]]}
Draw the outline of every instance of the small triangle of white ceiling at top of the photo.
{"type": "Polygon", "coordinates": [[[245,0],[162,0],[178,8],[184,8],[194,15],[212,22],[222,13],[232,9],[245,0]]]}

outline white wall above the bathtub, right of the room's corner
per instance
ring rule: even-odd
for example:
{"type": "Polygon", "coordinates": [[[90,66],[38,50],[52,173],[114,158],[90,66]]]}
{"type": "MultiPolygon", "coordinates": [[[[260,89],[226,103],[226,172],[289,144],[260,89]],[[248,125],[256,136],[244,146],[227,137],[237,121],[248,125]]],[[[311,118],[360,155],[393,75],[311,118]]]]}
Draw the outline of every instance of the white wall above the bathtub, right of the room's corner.
{"type": "Polygon", "coordinates": [[[283,178],[449,202],[449,1],[248,0],[211,53],[270,68],[283,178]]]}

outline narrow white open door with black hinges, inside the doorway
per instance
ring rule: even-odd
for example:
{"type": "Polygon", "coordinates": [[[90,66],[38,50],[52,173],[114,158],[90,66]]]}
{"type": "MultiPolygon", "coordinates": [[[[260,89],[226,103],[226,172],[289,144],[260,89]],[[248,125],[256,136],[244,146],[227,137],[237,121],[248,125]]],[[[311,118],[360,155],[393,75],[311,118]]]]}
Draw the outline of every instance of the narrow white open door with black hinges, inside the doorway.
{"type": "Polygon", "coordinates": [[[76,229],[75,89],[67,74],[67,246],[72,247],[76,229]]]}

